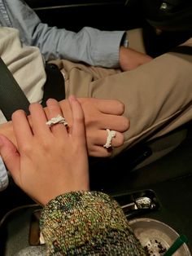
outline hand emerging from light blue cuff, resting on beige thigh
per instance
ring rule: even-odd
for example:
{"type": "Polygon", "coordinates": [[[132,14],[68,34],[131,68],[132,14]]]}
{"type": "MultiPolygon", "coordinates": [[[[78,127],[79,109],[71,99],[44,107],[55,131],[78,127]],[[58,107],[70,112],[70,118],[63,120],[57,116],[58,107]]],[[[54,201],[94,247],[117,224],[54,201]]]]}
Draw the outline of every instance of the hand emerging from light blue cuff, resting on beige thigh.
{"type": "Polygon", "coordinates": [[[149,55],[120,46],[120,68],[123,71],[132,70],[151,60],[153,59],[149,55]]]}

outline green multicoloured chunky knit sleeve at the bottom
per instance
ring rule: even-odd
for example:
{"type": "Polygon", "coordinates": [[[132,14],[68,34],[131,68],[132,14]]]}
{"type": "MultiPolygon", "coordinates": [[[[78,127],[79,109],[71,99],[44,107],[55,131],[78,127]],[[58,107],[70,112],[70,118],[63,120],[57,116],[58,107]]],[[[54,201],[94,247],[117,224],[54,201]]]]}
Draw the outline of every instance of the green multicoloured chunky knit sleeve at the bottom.
{"type": "Polygon", "coordinates": [[[120,206],[102,192],[71,192],[41,213],[48,255],[145,255],[120,206]]]}

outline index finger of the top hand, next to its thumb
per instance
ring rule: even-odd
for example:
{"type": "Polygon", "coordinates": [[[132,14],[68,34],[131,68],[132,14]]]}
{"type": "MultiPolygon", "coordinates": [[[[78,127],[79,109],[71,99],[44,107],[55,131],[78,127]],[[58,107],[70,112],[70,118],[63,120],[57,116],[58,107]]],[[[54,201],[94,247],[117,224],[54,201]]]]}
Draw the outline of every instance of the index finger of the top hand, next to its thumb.
{"type": "Polygon", "coordinates": [[[31,141],[33,132],[28,124],[28,118],[23,110],[17,110],[12,114],[13,130],[18,148],[20,149],[26,142],[31,141]]]}

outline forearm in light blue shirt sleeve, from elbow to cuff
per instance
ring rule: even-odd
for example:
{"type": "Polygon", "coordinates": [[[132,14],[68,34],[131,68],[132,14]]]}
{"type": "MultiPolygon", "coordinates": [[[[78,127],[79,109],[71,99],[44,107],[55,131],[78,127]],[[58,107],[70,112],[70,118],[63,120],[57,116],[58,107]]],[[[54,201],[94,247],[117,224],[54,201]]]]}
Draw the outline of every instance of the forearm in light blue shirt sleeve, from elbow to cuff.
{"type": "Polygon", "coordinates": [[[38,24],[33,33],[33,46],[40,48],[46,60],[64,59],[116,68],[119,67],[120,41],[123,34],[124,31],[100,31],[89,27],[74,33],[38,24]],[[41,37],[37,38],[39,34],[41,37]]]}

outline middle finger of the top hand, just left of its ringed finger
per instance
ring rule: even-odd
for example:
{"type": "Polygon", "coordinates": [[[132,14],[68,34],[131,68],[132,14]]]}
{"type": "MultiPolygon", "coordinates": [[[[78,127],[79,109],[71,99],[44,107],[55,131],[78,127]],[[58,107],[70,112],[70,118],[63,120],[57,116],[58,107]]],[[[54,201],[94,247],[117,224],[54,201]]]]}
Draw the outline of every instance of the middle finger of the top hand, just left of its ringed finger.
{"type": "Polygon", "coordinates": [[[41,138],[50,135],[50,128],[46,125],[46,113],[41,104],[30,104],[29,111],[31,113],[33,135],[37,135],[41,138]]]}

